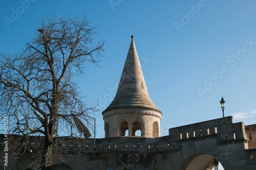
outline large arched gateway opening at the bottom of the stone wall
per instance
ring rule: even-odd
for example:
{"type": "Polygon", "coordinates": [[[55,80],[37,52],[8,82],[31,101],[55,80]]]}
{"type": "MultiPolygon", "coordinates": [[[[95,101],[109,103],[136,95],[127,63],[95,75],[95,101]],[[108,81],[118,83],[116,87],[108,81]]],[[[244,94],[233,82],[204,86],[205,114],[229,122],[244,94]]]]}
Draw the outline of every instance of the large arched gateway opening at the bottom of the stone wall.
{"type": "MultiPolygon", "coordinates": [[[[180,170],[212,170],[214,169],[215,157],[208,154],[195,154],[187,158],[180,170]]],[[[215,170],[215,169],[214,169],[215,170]]],[[[219,170],[224,170],[219,162],[219,170]]]]}

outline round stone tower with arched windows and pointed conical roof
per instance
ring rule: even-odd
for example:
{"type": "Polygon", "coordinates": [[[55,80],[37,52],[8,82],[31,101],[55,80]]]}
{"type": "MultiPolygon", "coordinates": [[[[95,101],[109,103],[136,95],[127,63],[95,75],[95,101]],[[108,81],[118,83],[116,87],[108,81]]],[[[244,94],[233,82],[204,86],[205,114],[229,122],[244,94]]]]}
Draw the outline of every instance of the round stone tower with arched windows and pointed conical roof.
{"type": "Polygon", "coordinates": [[[143,137],[160,136],[162,112],[148,95],[134,36],[123,67],[116,96],[103,112],[105,137],[136,136],[138,130],[143,137]]]}

